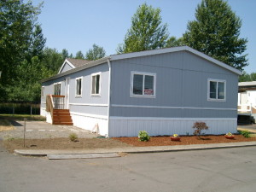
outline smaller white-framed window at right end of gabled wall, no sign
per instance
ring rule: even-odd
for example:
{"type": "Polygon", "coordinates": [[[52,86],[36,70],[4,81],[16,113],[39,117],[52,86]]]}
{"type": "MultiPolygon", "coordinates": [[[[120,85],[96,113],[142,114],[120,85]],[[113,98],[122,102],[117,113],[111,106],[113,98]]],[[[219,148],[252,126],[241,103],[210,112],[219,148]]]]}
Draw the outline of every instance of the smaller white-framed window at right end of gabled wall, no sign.
{"type": "Polygon", "coordinates": [[[208,101],[224,102],[226,99],[226,81],[208,79],[208,101]]]}

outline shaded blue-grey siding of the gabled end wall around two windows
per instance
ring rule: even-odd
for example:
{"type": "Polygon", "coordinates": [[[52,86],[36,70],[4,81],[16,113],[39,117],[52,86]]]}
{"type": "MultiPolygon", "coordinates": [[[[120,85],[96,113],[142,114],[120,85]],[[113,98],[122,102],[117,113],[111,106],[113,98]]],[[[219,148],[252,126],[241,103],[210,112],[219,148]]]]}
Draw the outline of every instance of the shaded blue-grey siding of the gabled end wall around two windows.
{"type": "Polygon", "coordinates": [[[236,108],[237,75],[187,51],[112,61],[112,69],[111,104],[119,107],[111,107],[111,116],[236,118],[236,111],[230,108],[236,108]],[[131,71],[156,73],[155,98],[130,96],[131,71]],[[226,80],[225,102],[207,101],[207,79],[226,80]],[[138,108],[121,108],[129,105],[138,108]]]}

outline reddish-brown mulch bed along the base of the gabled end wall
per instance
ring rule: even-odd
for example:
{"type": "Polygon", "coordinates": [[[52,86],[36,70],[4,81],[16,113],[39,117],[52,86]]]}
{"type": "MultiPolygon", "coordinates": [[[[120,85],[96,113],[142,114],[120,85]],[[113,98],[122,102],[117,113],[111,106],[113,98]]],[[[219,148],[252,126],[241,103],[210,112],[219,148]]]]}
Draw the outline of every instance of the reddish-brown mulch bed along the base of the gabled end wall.
{"type": "Polygon", "coordinates": [[[181,137],[180,142],[171,141],[169,136],[163,137],[150,137],[148,142],[138,141],[138,137],[113,137],[122,143],[127,143],[136,147],[147,146],[166,146],[166,145],[192,145],[192,144],[207,144],[207,143],[236,143],[236,142],[253,142],[256,141],[256,137],[246,138],[242,135],[236,135],[234,139],[227,139],[224,135],[221,136],[202,136],[201,139],[195,136],[181,137]]]}

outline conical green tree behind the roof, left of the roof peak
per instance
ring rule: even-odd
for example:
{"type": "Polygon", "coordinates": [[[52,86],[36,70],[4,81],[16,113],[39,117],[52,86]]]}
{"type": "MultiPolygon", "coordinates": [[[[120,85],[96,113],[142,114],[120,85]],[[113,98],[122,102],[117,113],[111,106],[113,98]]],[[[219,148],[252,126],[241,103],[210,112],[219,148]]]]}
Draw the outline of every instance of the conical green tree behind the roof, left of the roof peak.
{"type": "Polygon", "coordinates": [[[154,9],[147,3],[139,6],[131,18],[131,28],[125,35],[124,44],[119,44],[117,52],[120,54],[165,47],[169,33],[167,24],[161,24],[160,12],[159,8],[154,9]]]}

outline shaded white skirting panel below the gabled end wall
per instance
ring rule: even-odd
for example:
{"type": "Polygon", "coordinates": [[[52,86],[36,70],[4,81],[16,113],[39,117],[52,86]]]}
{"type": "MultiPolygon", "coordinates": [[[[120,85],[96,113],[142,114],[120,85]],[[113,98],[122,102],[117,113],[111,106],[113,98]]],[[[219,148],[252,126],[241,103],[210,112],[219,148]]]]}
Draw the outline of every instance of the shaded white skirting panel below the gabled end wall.
{"type": "Polygon", "coordinates": [[[236,118],[125,118],[110,117],[109,137],[137,137],[139,131],[148,131],[150,136],[193,135],[192,126],[196,121],[203,121],[209,129],[206,134],[236,133],[236,118]]]}

